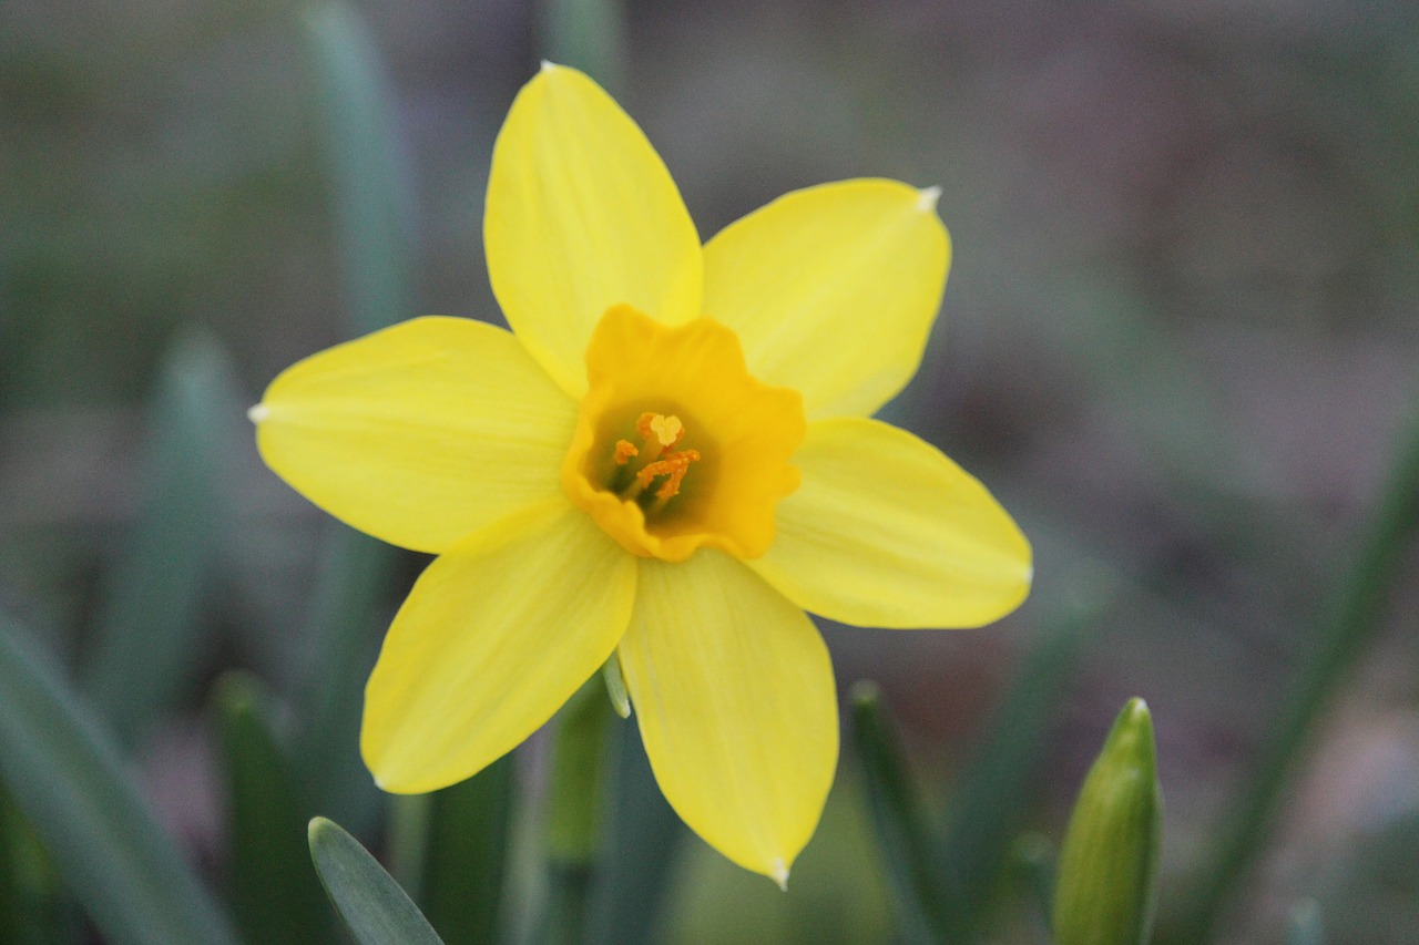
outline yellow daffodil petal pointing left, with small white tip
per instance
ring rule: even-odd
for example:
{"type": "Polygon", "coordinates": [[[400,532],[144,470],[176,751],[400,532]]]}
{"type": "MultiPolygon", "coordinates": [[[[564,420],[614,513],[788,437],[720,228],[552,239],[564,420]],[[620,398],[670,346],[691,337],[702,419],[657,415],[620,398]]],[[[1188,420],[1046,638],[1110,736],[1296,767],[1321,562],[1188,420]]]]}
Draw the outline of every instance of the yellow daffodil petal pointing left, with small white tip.
{"type": "Polygon", "coordinates": [[[437,553],[561,494],[576,404],[508,332],[430,316],[292,365],[251,419],[261,458],[298,492],[437,553]]]}

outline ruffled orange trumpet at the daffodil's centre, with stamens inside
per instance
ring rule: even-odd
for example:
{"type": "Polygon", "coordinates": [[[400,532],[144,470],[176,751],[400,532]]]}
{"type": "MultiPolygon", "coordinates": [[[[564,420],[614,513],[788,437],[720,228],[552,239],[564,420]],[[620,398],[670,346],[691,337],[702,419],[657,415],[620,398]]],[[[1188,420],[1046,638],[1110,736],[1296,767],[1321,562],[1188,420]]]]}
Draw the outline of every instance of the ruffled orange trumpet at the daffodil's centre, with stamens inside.
{"type": "Polygon", "coordinates": [[[708,318],[670,328],[626,305],[586,349],[587,393],[562,464],[568,495],[623,548],[684,560],[701,545],[758,558],[797,488],[797,392],[752,377],[708,318]]]}

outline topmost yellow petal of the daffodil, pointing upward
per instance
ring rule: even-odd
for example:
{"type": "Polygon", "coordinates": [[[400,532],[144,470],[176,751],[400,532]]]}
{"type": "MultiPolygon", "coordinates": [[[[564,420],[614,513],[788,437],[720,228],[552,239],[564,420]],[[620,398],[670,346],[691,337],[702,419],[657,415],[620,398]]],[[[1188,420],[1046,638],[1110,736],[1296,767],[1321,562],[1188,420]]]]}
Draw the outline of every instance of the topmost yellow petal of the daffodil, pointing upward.
{"type": "Polygon", "coordinates": [[[586,75],[546,65],[492,149],[484,244],[492,292],[572,396],[612,305],[678,325],[700,314],[700,237],[640,128],[586,75]]]}

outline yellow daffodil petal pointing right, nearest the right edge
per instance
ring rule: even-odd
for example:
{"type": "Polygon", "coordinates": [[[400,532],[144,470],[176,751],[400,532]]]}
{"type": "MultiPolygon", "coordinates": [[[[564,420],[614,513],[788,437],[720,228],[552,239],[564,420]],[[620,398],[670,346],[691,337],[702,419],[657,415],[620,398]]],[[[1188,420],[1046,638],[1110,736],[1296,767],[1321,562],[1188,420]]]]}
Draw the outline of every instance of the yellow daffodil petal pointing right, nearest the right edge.
{"type": "Polygon", "coordinates": [[[810,423],[769,553],[748,562],[816,614],[874,627],[976,627],[1030,590],[1030,543],[935,447],[877,420],[810,423]]]}

